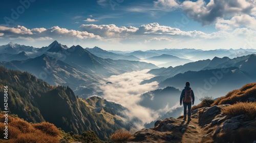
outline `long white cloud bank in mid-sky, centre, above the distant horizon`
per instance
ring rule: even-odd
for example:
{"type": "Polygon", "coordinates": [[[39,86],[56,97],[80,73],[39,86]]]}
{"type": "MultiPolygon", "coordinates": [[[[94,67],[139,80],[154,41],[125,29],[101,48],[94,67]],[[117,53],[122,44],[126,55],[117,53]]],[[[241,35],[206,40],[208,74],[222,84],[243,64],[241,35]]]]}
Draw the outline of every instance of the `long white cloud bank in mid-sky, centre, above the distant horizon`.
{"type": "MultiPolygon", "coordinates": [[[[105,38],[140,38],[138,36],[160,36],[157,37],[158,40],[168,38],[161,36],[177,36],[177,37],[200,37],[200,38],[211,38],[209,34],[205,34],[201,31],[182,31],[178,28],[172,28],[168,26],[160,26],[159,23],[149,23],[147,25],[141,25],[139,28],[127,26],[127,27],[117,27],[116,25],[81,25],[82,31],[87,31],[89,33],[94,33],[100,37],[105,38]]],[[[154,40],[154,39],[153,39],[154,40]]]]}

